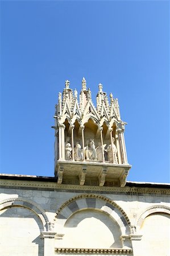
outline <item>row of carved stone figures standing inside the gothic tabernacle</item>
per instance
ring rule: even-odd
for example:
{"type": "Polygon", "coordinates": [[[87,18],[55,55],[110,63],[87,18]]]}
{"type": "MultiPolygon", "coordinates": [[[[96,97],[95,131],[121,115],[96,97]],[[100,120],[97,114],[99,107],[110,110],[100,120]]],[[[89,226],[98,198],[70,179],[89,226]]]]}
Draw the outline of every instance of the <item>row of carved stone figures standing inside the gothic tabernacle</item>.
{"type": "MultiPolygon", "coordinates": [[[[65,160],[71,161],[72,160],[72,146],[71,143],[68,141],[68,137],[65,142],[65,160]]],[[[84,147],[85,152],[85,160],[97,160],[99,162],[103,162],[103,158],[105,161],[109,163],[118,164],[117,158],[117,147],[114,144],[115,139],[112,138],[111,144],[107,146],[107,144],[101,144],[98,142],[98,146],[95,146],[94,139],[90,139],[86,141],[86,146],[84,147]]],[[[83,159],[83,151],[81,148],[80,143],[76,143],[74,147],[74,160],[81,161],[83,159]]]]}

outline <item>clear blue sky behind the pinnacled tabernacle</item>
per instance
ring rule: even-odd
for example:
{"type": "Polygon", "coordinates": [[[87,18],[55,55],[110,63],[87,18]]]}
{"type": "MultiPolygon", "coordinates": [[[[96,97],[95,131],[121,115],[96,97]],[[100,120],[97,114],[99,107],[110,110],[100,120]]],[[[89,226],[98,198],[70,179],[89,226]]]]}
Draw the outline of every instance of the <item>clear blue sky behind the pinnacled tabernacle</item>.
{"type": "Polygon", "coordinates": [[[169,1],[1,1],[1,172],[53,176],[65,80],[118,98],[127,180],[169,182],[169,1]]]}

